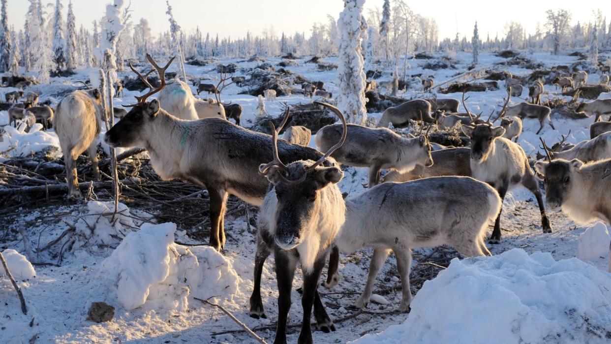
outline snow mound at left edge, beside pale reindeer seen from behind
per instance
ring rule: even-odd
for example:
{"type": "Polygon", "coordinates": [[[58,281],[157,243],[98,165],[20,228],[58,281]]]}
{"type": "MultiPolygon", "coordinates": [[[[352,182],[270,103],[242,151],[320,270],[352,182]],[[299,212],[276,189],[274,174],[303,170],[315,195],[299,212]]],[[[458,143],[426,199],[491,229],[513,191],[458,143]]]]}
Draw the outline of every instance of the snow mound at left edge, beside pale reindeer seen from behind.
{"type": "Polygon", "coordinates": [[[54,132],[43,131],[42,125],[37,124],[32,126],[29,133],[26,133],[24,125],[18,125],[17,128],[5,125],[0,140],[0,152],[12,148],[5,153],[5,156],[27,156],[51,147],[49,149],[49,152],[52,152],[51,158],[57,159],[62,156],[57,135],[54,132]]]}

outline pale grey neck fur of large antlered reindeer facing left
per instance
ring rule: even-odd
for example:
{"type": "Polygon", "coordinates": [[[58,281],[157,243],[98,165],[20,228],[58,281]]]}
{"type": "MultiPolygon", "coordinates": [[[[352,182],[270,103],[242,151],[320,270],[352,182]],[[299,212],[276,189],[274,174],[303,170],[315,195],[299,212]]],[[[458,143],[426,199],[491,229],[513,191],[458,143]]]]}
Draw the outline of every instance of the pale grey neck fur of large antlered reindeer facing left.
{"type": "Polygon", "coordinates": [[[144,132],[144,145],[151,165],[163,180],[180,178],[180,161],[188,147],[190,121],[181,120],[159,109],[144,132]],[[163,139],[161,139],[163,138],[163,139]]]}

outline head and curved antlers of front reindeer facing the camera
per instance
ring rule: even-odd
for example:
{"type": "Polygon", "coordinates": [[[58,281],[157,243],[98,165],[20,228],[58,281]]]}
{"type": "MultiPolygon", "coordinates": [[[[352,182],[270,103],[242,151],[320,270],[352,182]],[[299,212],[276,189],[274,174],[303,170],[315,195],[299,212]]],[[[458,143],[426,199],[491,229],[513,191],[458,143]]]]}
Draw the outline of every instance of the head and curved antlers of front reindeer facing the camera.
{"type": "Polygon", "coordinates": [[[270,122],[274,160],[259,166],[259,172],[265,175],[273,185],[273,191],[270,192],[274,192],[276,196],[276,213],[275,218],[270,219],[271,222],[274,222],[270,226],[275,228],[276,244],[285,250],[299,246],[307,236],[316,230],[321,221],[331,220],[322,218],[324,211],[321,211],[330,210],[327,207],[333,208],[329,199],[343,202],[342,193],[335,185],[343,178],[342,170],[334,164],[327,163],[325,166],[323,163],[345,141],[346,121],[342,112],[334,106],[327,103],[316,103],[326,106],[340,117],[343,123],[342,139],[316,162],[301,160],[285,165],[280,161],[278,155],[277,137],[287,122],[287,109],[279,130],[276,130],[273,123],[270,122]]]}

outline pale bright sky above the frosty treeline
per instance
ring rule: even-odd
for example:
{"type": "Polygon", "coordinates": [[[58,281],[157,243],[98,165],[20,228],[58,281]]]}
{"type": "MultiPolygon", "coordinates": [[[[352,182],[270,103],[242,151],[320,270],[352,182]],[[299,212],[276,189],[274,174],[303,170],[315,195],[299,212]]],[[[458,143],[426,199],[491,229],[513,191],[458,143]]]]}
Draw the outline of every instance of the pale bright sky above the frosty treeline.
{"type": "MultiPolygon", "coordinates": [[[[43,0],[43,4],[55,0],[43,0]]],[[[107,0],[73,0],[77,27],[83,24],[91,29],[93,20],[99,20],[104,13],[107,0]]],[[[128,4],[130,0],[125,0],[128,4]]],[[[379,7],[383,0],[366,0],[367,10],[379,7]]],[[[391,0],[391,4],[392,4],[391,0]]],[[[423,16],[433,17],[439,26],[440,40],[453,38],[458,28],[459,35],[470,38],[473,25],[478,21],[480,38],[491,38],[499,34],[504,36],[503,27],[508,21],[518,21],[524,26],[527,34],[535,32],[537,23],[545,22],[547,9],[567,9],[573,14],[573,23],[593,20],[593,10],[602,10],[611,21],[611,0],[502,0],[502,1],[406,1],[406,3],[423,16]]],[[[64,20],[68,9],[68,0],[62,0],[64,5],[64,20]]],[[[212,36],[217,33],[221,37],[244,37],[247,31],[260,34],[264,28],[273,26],[277,35],[282,31],[292,35],[296,31],[305,32],[309,37],[314,22],[327,23],[327,14],[337,20],[342,10],[342,0],[170,0],[174,17],[186,32],[196,26],[212,36]]],[[[29,2],[26,0],[8,0],[9,24],[16,30],[23,27],[24,16],[29,2]]],[[[165,0],[131,0],[132,20],[148,19],[153,34],[167,31],[169,22],[166,15],[165,0]]]]}

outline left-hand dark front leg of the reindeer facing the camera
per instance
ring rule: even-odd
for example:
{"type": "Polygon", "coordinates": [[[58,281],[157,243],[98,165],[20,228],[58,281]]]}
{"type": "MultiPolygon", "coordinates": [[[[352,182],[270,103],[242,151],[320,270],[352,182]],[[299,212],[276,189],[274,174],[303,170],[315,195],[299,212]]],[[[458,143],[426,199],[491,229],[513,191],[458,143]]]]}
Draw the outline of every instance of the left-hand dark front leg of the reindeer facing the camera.
{"type": "MultiPolygon", "coordinates": [[[[286,344],[287,317],[288,310],[291,308],[291,289],[293,288],[297,258],[291,252],[276,247],[274,260],[276,260],[276,280],[278,282],[278,323],[274,344],[286,344]]],[[[310,322],[308,321],[308,323],[310,322]]]]}

